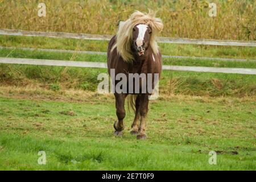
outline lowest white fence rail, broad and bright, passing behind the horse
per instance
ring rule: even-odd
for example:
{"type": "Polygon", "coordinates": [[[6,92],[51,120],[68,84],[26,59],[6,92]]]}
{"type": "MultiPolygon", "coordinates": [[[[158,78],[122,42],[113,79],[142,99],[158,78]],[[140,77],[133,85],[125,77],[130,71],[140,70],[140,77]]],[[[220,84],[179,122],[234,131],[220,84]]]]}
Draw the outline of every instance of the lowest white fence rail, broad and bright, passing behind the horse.
{"type": "MultiPolygon", "coordinates": [[[[22,58],[10,58],[10,57],[0,57],[0,63],[48,65],[48,66],[61,66],[61,67],[107,68],[106,63],[100,63],[100,62],[22,59],[22,58]]],[[[187,66],[163,65],[163,70],[211,72],[211,73],[238,73],[238,74],[246,74],[246,75],[256,75],[256,69],[251,69],[251,68],[216,68],[216,67],[187,67],[187,66]]]]}

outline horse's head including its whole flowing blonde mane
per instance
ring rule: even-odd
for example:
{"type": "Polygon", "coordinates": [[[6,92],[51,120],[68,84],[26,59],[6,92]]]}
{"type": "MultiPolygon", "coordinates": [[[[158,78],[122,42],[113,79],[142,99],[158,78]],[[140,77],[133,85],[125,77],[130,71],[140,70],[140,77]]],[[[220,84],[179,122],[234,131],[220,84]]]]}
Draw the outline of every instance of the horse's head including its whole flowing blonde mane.
{"type": "Polygon", "coordinates": [[[163,22],[155,18],[154,11],[148,13],[135,11],[130,18],[123,22],[115,36],[115,44],[111,51],[117,48],[117,53],[124,61],[133,61],[135,55],[142,56],[150,47],[152,52],[158,54],[156,35],[163,30],[163,22]]]}

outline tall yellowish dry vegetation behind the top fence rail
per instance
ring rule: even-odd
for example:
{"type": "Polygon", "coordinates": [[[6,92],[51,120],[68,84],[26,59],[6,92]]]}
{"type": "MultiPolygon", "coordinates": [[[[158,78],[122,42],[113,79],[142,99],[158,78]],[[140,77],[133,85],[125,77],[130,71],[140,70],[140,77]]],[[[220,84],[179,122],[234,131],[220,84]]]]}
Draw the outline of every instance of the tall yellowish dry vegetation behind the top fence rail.
{"type": "Polygon", "coordinates": [[[36,0],[0,0],[0,27],[34,31],[63,31],[88,34],[115,34],[119,20],[133,11],[158,11],[164,22],[161,36],[255,40],[255,1],[220,0],[217,17],[208,15],[209,1],[123,1],[55,0],[40,1],[47,6],[46,18],[38,16],[36,0]]]}

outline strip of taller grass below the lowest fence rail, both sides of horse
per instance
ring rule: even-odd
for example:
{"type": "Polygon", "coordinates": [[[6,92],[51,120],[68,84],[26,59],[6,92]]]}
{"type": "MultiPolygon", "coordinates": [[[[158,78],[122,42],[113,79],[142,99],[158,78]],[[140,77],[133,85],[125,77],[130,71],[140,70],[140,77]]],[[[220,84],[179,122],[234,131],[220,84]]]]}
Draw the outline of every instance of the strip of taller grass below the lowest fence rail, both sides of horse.
{"type": "MultiPolygon", "coordinates": [[[[100,73],[107,73],[107,70],[0,64],[1,85],[35,85],[53,90],[72,88],[96,91],[100,73]]],[[[255,75],[163,71],[159,86],[163,94],[254,97],[255,79],[255,75]]]]}

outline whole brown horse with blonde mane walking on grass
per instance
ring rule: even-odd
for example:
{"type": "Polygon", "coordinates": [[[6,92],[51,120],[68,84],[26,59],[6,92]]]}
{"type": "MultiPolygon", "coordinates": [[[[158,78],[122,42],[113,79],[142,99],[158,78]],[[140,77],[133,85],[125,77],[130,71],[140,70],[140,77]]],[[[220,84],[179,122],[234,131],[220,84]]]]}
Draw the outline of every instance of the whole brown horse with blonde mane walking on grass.
{"type": "MultiPolygon", "coordinates": [[[[159,74],[162,72],[162,55],[156,43],[156,34],[163,30],[162,20],[155,17],[155,13],[135,11],[119,27],[116,35],[110,39],[108,44],[108,73],[114,69],[114,75],[118,73],[129,77],[133,74],[159,74]]],[[[155,83],[153,75],[152,82],[155,83]]],[[[146,78],[147,82],[148,78],[146,78]]],[[[129,96],[129,106],[135,111],[130,133],[137,135],[137,139],[146,139],[146,115],[148,113],[148,102],[151,92],[142,92],[142,81],[139,84],[127,81],[127,86],[138,86],[139,93],[114,93],[117,121],[114,122],[114,135],[122,136],[125,129],[125,99],[129,96]],[[134,108],[135,107],[135,108],[134,108]]],[[[145,80],[144,80],[145,81],[145,80]]],[[[113,80],[116,86],[118,80],[113,80]]],[[[154,88],[155,84],[153,84],[154,88]]]]}

